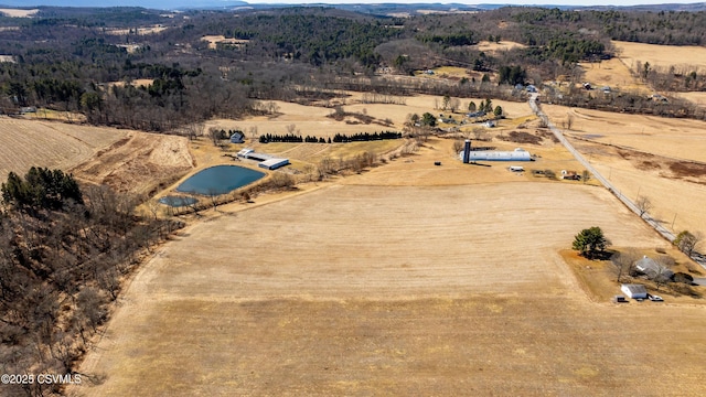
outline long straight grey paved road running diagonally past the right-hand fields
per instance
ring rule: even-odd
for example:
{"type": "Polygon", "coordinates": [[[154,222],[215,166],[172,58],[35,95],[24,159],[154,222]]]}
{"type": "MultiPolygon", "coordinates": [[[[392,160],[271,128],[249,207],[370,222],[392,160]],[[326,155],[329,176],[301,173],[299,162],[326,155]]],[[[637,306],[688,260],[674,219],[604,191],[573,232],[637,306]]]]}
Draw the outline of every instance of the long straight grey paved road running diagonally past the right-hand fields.
{"type": "MultiPolygon", "coordinates": [[[[561,142],[564,144],[566,150],[568,150],[571,154],[574,154],[576,160],[578,160],[588,170],[588,172],[593,174],[593,178],[596,178],[600,183],[602,183],[603,186],[606,186],[606,189],[608,189],[608,191],[611,192],[616,197],[618,197],[621,202],[623,202],[623,204],[625,204],[625,206],[628,208],[630,208],[638,216],[641,216],[640,215],[640,208],[638,208],[635,203],[633,203],[632,200],[630,200],[630,198],[625,197],[623,194],[621,194],[620,191],[618,189],[616,189],[616,186],[613,186],[612,183],[610,183],[610,181],[608,181],[606,178],[603,178],[603,175],[601,175],[598,172],[598,170],[596,170],[581,155],[581,153],[579,153],[576,149],[574,149],[574,146],[564,137],[564,133],[561,133],[561,130],[556,128],[552,124],[552,121],[549,120],[547,115],[545,115],[542,111],[542,109],[539,108],[539,105],[537,103],[537,97],[538,97],[538,94],[532,94],[532,96],[530,97],[530,107],[532,108],[532,111],[534,111],[539,118],[542,118],[542,120],[544,120],[544,122],[547,125],[547,127],[549,127],[549,129],[552,130],[554,136],[559,140],[559,142],[561,142]]],[[[645,212],[644,214],[642,214],[642,218],[644,219],[644,222],[650,224],[655,230],[657,230],[659,234],[661,234],[667,240],[674,242],[674,238],[676,238],[676,236],[674,236],[674,234],[672,232],[667,230],[664,226],[662,226],[661,223],[659,223],[657,221],[652,218],[652,216],[650,216],[649,213],[645,212]]],[[[704,266],[704,264],[702,264],[702,266],[704,266]]]]}

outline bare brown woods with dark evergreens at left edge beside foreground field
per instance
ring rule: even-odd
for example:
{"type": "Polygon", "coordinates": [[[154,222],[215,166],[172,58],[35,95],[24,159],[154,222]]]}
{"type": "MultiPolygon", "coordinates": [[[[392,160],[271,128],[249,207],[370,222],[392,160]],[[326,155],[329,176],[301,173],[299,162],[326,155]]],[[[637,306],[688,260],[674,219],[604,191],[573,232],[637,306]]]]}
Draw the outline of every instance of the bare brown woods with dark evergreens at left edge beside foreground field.
{"type": "MultiPolygon", "coordinates": [[[[73,373],[139,253],[181,226],[138,216],[137,197],[76,186],[72,175],[39,168],[2,184],[3,373],[73,373]]],[[[57,391],[58,385],[2,385],[10,396],[57,391]]]]}

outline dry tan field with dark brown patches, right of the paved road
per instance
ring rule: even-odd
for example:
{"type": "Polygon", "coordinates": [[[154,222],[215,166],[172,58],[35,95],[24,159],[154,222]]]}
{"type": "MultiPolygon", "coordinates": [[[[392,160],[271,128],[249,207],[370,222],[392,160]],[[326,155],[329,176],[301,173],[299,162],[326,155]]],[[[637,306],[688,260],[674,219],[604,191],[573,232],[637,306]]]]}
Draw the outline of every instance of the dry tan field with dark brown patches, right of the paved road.
{"type": "Polygon", "coordinates": [[[543,106],[585,157],[622,194],[646,196],[651,215],[667,228],[706,235],[706,122],[543,106]]]}

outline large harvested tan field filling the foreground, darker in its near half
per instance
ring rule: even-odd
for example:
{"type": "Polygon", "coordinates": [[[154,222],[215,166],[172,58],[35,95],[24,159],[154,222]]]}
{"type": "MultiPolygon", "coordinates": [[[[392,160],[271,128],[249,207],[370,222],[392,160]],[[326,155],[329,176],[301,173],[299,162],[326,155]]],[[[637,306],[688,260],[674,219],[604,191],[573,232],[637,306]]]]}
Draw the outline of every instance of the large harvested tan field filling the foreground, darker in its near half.
{"type": "Polygon", "coordinates": [[[364,184],[376,172],[190,226],[69,394],[706,393],[704,307],[592,302],[558,254],[592,225],[665,244],[607,191],[364,184]]]}

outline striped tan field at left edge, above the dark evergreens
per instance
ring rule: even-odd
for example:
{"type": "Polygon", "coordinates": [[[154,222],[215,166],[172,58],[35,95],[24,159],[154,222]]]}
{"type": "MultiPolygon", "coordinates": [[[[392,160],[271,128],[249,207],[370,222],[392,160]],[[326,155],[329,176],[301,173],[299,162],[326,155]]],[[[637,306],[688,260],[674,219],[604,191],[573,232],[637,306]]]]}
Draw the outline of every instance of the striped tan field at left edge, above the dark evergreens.
{"type": "Polygon", "coordinates": [[[0,181],[4,181],[10,171],[24,175],[33,165],[66,170],[126,135],[125,130],[115,128],[2,117],[0,181]]]}

